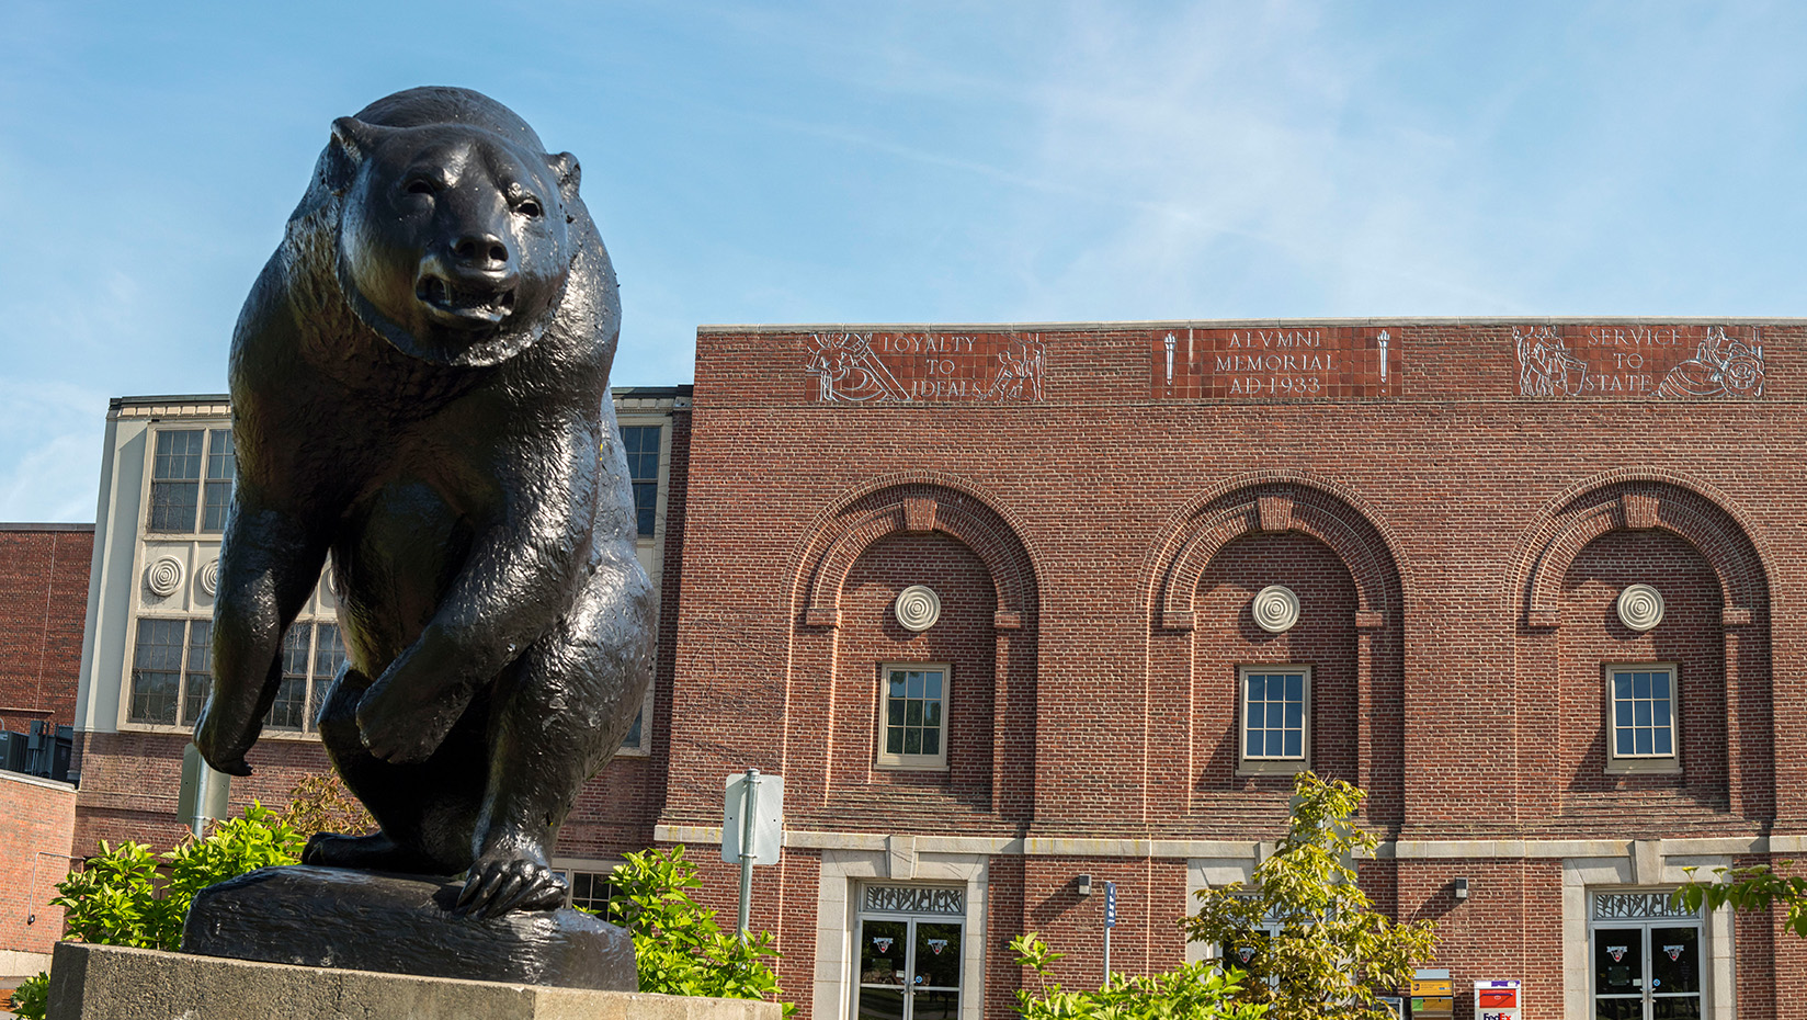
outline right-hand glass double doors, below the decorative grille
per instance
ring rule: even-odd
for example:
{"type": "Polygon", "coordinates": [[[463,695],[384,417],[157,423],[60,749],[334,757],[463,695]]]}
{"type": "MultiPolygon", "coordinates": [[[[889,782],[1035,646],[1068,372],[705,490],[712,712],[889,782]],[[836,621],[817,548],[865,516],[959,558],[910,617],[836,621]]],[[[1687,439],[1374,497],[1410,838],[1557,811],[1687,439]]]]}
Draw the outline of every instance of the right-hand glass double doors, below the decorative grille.
{"type": "Polygon", "coordinates": [[[1700,1020],[1700,926],[1594,928],[1596,1020],[1700,1020]]]}

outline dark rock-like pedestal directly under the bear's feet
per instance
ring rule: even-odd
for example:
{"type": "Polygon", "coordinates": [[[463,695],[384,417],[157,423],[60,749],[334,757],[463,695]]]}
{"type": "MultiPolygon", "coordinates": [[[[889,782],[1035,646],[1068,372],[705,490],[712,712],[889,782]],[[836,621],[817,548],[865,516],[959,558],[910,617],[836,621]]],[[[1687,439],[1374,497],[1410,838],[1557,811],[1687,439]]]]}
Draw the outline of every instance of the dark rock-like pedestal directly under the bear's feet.
{"type": "Polygon", "coordinates": [[[264,868],[208,886],[183,951],[266,964],[636,991],[634,940],[576,910],[452,913],[461,883],[343,868],[264,868]]]}

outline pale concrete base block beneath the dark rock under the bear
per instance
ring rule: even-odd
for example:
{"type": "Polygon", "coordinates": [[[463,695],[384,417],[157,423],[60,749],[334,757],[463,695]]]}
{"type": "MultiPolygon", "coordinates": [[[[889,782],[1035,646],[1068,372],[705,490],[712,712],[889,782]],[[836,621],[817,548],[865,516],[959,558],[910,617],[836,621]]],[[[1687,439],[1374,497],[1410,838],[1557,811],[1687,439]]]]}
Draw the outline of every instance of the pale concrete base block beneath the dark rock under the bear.
{"type": "Polygon", "coordinates": [[[51,1020],[781,1020],[775,1002],[296,968],[58,942],[51,1020]]]}

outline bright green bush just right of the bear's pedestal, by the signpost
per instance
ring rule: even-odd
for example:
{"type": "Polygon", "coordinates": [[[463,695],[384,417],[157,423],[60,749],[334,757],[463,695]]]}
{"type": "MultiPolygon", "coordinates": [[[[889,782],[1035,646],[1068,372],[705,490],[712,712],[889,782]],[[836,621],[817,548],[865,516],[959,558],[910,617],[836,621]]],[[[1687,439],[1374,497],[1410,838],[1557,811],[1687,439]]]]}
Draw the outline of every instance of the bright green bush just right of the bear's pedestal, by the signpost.
{"type": "MultiPolygon", "coordinates": [[[[703,884],[683,846],[627,854],[609,875],[613,892],[605,919],[634,937],[640,991],[665,995],[714,995],[719,998],[768,998],[779,980],[768,959],[770,931],[741,940],[716,924],[716,911],[690,899],[703,884]]],[[[784,1002],[784,1015],[797,1007],[784,1002]]]]}

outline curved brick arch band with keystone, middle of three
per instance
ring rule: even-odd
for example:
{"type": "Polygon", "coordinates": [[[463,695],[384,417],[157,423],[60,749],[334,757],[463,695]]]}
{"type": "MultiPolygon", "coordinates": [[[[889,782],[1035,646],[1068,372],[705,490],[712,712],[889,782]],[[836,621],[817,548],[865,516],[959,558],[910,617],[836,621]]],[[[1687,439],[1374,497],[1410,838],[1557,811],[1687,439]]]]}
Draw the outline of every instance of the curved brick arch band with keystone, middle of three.
{"type": "Polygon", "coordinates": [[[1193,628],[1198,579],[1218,550],[1252,534],[1296,532],[1330,546],[1355,581],[1355,626],[1384,628],[1388,617],[1399,617],[1404,577],[1388,532],[1319,479],[1243,476],[1214,486],[1182,514],[1162,546],[1166,562],[1155,568],[1153,609],[1162,629],[1193,628]]]}

